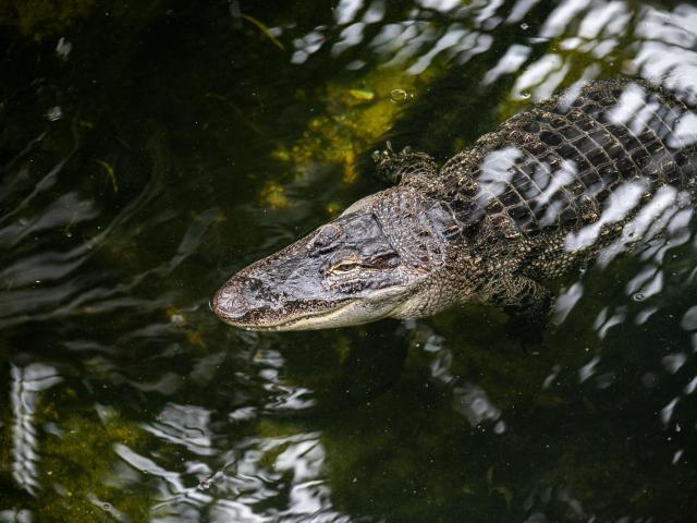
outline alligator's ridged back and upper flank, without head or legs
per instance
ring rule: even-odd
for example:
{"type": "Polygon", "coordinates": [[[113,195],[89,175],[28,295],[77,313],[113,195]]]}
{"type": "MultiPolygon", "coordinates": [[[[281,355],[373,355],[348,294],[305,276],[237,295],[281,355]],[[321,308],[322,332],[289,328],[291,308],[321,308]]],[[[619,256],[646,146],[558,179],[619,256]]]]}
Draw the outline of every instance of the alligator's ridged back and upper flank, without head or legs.
{"type": "Polygon", "coordinates": [[[673,95],[596,81],[511,118],[441,175],[468,244],[490,253],[492,241],[519,239],[522,254],[554,260],[527,256],[536,276],[555,276],[577,260],[568,252],[592,257],[662,187],[674,200],[690,196],[696,143],[697,115],[673,95]]]}

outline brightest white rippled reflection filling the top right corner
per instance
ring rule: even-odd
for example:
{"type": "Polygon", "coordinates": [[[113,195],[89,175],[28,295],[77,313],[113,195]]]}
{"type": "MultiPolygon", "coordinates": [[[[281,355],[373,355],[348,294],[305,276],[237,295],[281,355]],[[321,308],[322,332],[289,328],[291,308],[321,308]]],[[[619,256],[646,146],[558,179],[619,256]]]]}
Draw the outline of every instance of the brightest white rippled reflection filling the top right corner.
{"type": "MultiPolygon", "coordinates": [[[[552,11],[539,32],[538,42],[557,38],[560,50],[586,54],[591,60],[580,75],[586,80],[600,74],[599,65],[610,62],[624,74],[658,80],[678,92],[683,99],[694,102],[697,100],[694,82],[697,52],[690,21],[696,17],[697,10],[687,4],[670,13],[623,1],[572,0],[561,2],[552,11]],[[572,22],[576,20],[580,20],[580,24],[573,29],[572,22]],[[631,38],[632,44],[620,46],[626,38],[631,38]]],[[[522,94],[531,92],[533,99],[546,98],[571,74],[574,60],[574,54],[568,52],[547,52],[531,63],[525,61],[518,68],[510,68],[505,71],[508,74],[521,71],[513,96],[525,98],[522,94]]]]}

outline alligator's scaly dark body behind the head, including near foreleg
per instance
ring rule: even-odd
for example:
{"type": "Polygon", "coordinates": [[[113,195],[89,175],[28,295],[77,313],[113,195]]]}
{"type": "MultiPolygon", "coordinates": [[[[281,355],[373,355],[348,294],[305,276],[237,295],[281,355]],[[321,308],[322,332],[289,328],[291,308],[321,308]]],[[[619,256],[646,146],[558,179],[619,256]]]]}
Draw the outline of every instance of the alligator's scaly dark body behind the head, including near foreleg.
{"type": "Polygon", "coordinates": [[[402,190],[445,202],[453,217],[440,235],[409,244],[438,255],[439,244],[453,246],[453,259],[441,256],[454,268],[436,291],[442,301],[478,296],[543,316],[545,281],[620,241],[659,190],[692,205],[695,144],[697,115],[672,94],[643,81],[591,82],[511,118],[440,171],[402,174],[402,190]]]}

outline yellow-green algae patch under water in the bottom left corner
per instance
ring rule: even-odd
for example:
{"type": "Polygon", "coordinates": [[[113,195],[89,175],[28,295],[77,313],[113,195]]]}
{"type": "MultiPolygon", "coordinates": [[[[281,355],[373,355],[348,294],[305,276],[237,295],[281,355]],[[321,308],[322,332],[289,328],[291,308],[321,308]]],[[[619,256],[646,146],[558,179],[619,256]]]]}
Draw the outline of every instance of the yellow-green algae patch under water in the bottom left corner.
{"type": "MultiPolygon", "coordinates": [[[[72,388],[63,388],[58,398],[64,404],[78,401],[72,388]]],[[[142,486],[124,484],[113,475],[120,461],[113,446],[142,447],[145,440],[140,427],[113,408],[105,410],[107,414],[99,418],[94,413],[66,413],[65,405],[59,408],[54,401],[41,403],[34,426],[50,423],[59,433],[38,433],[40,437],[34,443],[40,455],[39,496],[17,496],[16,504],[10,507],[29,510],[38,521],[101,521],[112,508],[134,521],[146,520],[151,500],[142,486]]],[[[3,415],[3,419],[11,421],[12,416],[3,415]]],[[[15,459],[10,425],[0,430],[0,469],[10,471],[15,459]]],[[[5,491],[13,488],[8,485],[5,491]]]]}

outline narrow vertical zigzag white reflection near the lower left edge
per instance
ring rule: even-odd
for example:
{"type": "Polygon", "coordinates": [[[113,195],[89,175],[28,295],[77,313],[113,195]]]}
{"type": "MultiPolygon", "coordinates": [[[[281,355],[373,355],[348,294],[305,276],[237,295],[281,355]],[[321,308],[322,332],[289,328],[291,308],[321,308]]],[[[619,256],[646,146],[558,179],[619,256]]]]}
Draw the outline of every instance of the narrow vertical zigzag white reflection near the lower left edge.
{"type": "Polygon", "coordinates": [[[38,482],[39,434],[34,425],[40,392],[60,384],[63,378],[50,365],[33,363],[26,367],[12,365],[10,404],[12,425],[12,478],[27,492],[36,496],[38,482]]]}

